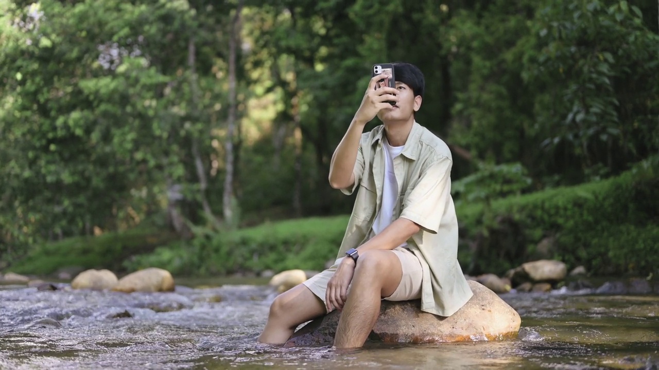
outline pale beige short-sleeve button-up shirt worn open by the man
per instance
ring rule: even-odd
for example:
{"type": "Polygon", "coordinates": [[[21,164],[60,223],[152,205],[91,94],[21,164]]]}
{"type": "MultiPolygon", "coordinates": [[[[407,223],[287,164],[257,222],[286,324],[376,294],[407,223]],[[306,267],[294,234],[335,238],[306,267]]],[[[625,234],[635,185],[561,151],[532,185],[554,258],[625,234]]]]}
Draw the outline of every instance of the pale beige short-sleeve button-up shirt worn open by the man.
{"type": "MultiPolygon", "coordinates": [[[[341,192],[357,198],[337,259],[364,244],[382,205],[384,126],[364,132],[355,163],[355,183],[341,192]]],[[[423,269],[421,310],[450,316],[473,292],[457,261],[458,225],[451,198],[451,151],[443,140],[414,122],[401,155],[393,160],[399,194],[393,219],[403,217],[421,230],[407,240],[423,269]]]]}

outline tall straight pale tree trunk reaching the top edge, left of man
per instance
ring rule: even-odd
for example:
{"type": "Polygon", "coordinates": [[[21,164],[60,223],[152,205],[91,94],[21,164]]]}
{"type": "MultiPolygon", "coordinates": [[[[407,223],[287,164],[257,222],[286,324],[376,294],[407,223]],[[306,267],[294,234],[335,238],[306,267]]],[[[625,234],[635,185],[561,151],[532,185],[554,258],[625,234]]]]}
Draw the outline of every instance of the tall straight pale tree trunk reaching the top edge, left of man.
{"type": "Polygon", "coordinates": [[[236,125],[236,48],[239,40],[239,20],[243,10],[243,0],[238,1],[236,14],[231,22],[231,37],[229,38],[229,119],[227,122],[226,166],[224,192],[222,194],[224,222],[233,225],[233,130],[236,125]]]}

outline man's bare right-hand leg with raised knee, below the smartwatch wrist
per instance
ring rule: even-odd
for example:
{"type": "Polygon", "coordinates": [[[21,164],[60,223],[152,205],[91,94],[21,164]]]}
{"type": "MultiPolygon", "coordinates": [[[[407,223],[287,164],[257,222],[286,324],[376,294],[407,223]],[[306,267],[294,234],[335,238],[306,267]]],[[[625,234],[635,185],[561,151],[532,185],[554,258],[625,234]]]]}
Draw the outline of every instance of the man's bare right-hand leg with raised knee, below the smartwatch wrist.
{"type": "Polygon", "coordinates": [[[380,315],[380,300],[395,292],[401,278],[403,267],[392,251],[366,251],[360,255],[336,329],[336,348],[364,345],[380,315]]]}

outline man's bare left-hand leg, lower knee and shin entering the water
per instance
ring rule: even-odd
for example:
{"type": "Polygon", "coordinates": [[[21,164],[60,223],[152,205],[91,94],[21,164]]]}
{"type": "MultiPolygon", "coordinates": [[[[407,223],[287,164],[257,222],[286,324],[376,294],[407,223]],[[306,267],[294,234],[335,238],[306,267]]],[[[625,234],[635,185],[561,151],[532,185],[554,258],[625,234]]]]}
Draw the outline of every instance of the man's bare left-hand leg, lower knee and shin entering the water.
{"type": "Polygon", "coordinates": [[[295,328],[305,321],[325,315],[325,305],[303,284],[283,292],[270,305],[268,323],[258,341],[284,344],[295,328]]]}

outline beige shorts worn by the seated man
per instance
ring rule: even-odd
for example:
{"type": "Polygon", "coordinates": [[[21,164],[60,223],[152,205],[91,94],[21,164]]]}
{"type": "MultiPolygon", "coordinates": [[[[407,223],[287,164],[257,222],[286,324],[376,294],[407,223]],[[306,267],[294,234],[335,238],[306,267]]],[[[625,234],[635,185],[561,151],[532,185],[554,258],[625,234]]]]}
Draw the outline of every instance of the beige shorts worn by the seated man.
{"type": "MultiPolygon", "coordinates": [[[[398,285],[398,288],[391,294],[391,296],[382,298],[387,301],[407,301],[407,300],[416,300],[421,298],[421,280],[423,277],[423,272],[421,269],[421,263],[419,263],[416,255],[410,250],[404,247],[398,247],[394,250],[391,250],[401,261],[401,267],[403,267],[403,277],[401,278],[401,283],[398,285]]],[[[309,290],[311,290],[320,300],[325,303],[325,292],[327,290],[329,278],[334,275],[339,263],[343,261],[341,257],[337,259],[336,263],[318,273],[313,277],[309,278],[302,284],[304,284],[309,290]]],[[[351,284],[352,285],[352,284],[351,284]]],[[[348,286],[350,290],[351,285],[348,286]]]]}

